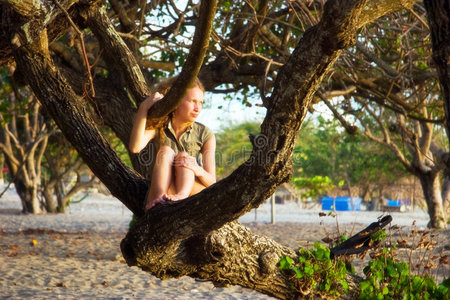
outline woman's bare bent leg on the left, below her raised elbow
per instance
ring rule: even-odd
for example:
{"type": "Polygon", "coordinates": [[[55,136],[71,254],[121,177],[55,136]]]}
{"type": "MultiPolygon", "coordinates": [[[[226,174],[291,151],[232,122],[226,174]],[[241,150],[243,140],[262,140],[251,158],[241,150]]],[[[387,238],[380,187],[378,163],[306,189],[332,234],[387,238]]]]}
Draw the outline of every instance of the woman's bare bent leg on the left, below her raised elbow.
{"type": "Polygon", "coordinates": [[[163,195],[169,191],[169,186],[173,177],[173,162],[175,152],[168,146],[162,146],[156,155],[156,162],[153,167],[152,182],[147,195],[145,209],[150,209],[156,204],[163,202],[163,195]]]}

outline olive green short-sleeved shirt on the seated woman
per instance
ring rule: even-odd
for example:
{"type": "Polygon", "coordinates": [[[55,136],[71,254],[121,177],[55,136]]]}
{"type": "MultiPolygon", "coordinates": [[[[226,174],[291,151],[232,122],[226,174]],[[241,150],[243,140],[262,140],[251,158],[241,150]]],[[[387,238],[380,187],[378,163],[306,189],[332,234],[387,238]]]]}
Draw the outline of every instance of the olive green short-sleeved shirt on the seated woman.
{"type": "Polygon", "coordinates": [[[208,127],[201,123],[194,122],[177,140],[175,131],[172,127],[172,122],[169,122],[167,127],[164,128],[164,133],[165,137],[161,138],[161,134],[158,130],[147,148],[149,151],[147,159],[148,163],[151,164],[151,170],[153,170],[156,155],[158,154],[161,145],[169,146],[175,151],[175,154],[182,151],[187,152],[187,154],[196,158],[199,166],[203,167],[203,145],[213,136],[212,131],[208,127]]]}

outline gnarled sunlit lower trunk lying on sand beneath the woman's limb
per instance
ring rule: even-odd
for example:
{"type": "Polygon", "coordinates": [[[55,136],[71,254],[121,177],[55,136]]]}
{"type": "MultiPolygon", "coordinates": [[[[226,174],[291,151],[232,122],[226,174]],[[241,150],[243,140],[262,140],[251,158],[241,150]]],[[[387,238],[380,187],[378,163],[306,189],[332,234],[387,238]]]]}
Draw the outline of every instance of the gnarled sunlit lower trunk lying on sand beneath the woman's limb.
{"type": "MultiPolygon", "coordinates": [[[[172,241],[164,245],[164,251],[162,245],[152,244],[153,238],[142,238],[148,234],[148,226],[144,224],[148,224],[147,216],[138,220],[122,241],[122,253],[129,265],[139,266],[161,279],[187,275],[208,278],[216,286],[248,287],[280,299],[299,295],[314,298],[314,291],[307,289],[301,294],[289,288],[289,276],[277,267],[281,257],[295,257],[295,252],[252,234],[238,222],[230,222],[206,235],[172,241]],[[135,252],[136,246],[140,253],[135,252]]],[[[357,279],[349,276],[348,281],[353,292],[343,298],[354,299],[357,279]]]]}

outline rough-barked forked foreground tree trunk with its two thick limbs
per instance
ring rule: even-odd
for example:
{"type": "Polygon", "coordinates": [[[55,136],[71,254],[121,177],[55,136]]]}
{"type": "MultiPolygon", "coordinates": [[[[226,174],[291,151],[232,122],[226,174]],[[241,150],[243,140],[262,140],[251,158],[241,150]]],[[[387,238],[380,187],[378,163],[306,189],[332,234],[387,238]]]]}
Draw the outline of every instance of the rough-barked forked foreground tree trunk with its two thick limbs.
{"type": "MultiPolygon", "coordinates": [[[[75,2],[71,2],[73,6],[75,2]]],[[[147,182],[120,161],[90,117],[86,100],[73,91],[53,63],[48,52],[50,30],[41,30],[31,43],[6,44],[14,49],[14,60],[22,76],[64,135],[111,193],[138,216],[121,244],[129,265],[138,265],[160,278],[188,275],[239,284],[279,298],[293,298],[296,294],[290,289],[288,278],[276,266],[281,255],[293,255],[293,251],[253,235],[234,220],[258,207],[291,176],[295,137],[312,96],[342,49],[354,42],[357,29],[381,11],[388,13],[413,3],[328,1],[322,21],[305,32],[279,71],[272,96],[266,101],[267,116],[261,134],[252,141],[250,159],[201,193],[184,201],[158,205],[147,213],[142,209],[147,182]]],[[[77,6],[76,11],[89,15],[92,13],[89,9],[86,3],[77,6]]],[[[43,12],[42,17],[45,16],[43,12]]],[[[11,22],[10,37],[17,28],[11,22]]],[[[116,61],[124,64],[127,60],[116,61]]],[[[139,68],[124,69],[133,73],[133,76],[123,74],[131,84],[131,78],[142,78],[139,68]]],[[[145,96],[145,92],[135,94],[145,96]]],[[[351,289],[357,292],[356,286],[351,289]]],[[[353,298],[354,294],[348,297],[353,298]]]]}

